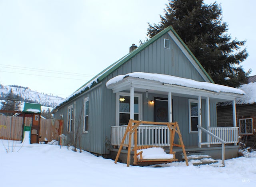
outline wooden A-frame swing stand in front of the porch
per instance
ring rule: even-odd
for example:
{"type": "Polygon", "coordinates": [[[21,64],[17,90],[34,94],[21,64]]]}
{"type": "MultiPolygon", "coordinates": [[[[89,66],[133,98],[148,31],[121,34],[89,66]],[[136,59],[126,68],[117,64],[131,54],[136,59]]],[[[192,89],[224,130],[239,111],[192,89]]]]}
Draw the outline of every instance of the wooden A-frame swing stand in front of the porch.
{"type": "Polygon", "coordinates": [[[127,153],[127,167],[130,166],[130,155],[131,155],[131,146],[132,146],[132,134],[134,134],[134,165],[138,165],[138,163],[168,163],[172,161],[177,161],[178,159],[175,158],[175,152],[173,152],[173,146],[178,146],[182,148],[184,158],[186,161],[186,165],[188,166],[188,159],[185,151],[185,146],[182,141],[182,136],[180,133],[180,128],[178,125],[178,122],[148,122],[148,121],[138,121],[138,120],[132,120],[130,119],[128,122],[128,126],[126,128],[126,131],[124,132],[124,137],[122,139],[122,142],[120,144],[118,153],[116,155],[115,163],[117,163],[118,158],[120,156],[121,150],[123,146],[128,147],[128,153],[127,153]],[[166,125],[168,126],[168,129],[170,130],[170,153],[173,154],[174,158],[172,159],[142,159],[142,152],[137,153],[137,150],[142,148],[149,148],[154,146],[137,146],[137,128],[140,126],[140,124],[156,124],[156,125],[166,125]],[[128,144],[124,144],[125,138],[127,134],[129,133],[129,140],[128,144]],[[178,134],[180,138],[180,144],[174,144],[174,135],[175,133],[178,134]],[[140,159],[137,158],[137,156],[140,155],[140,159]]]}

